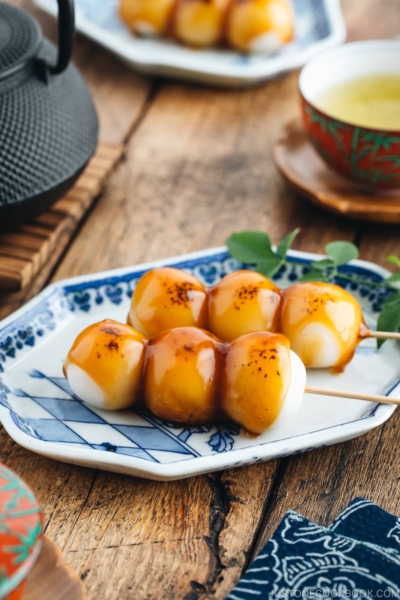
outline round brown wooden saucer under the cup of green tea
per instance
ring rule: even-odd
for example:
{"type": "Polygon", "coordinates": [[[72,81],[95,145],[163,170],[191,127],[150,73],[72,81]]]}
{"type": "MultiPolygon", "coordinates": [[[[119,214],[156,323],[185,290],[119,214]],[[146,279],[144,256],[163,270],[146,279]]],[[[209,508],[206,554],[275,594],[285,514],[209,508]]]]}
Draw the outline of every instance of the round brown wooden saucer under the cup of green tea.
{"type": "Polygon", "coordinates": [[[400,189],[370,191],[336,174],[314,150],[300,121],[284,127],[274,160],[291,187],[317,206],[363,221],[400,223],[400,189]]]}

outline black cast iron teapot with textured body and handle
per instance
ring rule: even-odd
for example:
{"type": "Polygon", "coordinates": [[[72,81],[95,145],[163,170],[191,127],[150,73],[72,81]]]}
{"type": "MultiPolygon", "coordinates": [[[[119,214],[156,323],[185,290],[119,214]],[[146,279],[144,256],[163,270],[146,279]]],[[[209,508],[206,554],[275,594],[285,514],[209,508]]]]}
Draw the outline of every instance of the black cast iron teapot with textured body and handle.
{"type": "Polygon", "coordinates": [[[58,50],[27,12],[0,1],[0,229],[58,200],[97,145],[92,98],[70,63],[73,0],[58,0],[58,50]]]}

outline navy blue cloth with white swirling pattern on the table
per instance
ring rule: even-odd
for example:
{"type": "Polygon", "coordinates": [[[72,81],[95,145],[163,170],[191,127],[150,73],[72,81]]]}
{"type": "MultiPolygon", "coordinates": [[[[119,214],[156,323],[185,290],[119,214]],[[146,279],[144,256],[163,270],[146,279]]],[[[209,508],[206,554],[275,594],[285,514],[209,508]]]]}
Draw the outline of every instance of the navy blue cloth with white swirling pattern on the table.
{"type": "Polygon", "coordinates": [[[360,498],[329,528],[290,511],[227,600],[400,599],[399,540],[399,519],[360,498]]]}

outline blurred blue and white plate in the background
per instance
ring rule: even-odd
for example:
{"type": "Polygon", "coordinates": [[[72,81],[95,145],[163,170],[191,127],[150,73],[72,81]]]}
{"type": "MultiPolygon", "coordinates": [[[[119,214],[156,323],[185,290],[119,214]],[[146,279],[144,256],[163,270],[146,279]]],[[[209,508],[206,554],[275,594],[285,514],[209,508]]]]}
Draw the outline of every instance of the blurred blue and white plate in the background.
{"type": "MultiPolygon", "coordinates": [[[[34,0],[55,15],[56,0],[34,0]]],[[[219,85],[248,85],[302,66],[344,41],[339,0],[292,0],[295,40],[273,56],[230,50],[192,50],[162,39],[134,37],[118,16],[119,0],[75,0],[78,31],[137,70],[219,85]]]]}

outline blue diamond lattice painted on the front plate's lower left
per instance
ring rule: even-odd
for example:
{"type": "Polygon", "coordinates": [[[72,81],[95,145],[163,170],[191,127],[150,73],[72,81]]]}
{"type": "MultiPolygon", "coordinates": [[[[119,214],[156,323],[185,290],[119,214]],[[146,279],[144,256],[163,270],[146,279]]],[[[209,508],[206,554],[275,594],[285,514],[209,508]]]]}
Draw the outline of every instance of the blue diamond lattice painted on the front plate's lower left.
{"type": "MultiPolygon", "coordinates": [[[[190,445],[194,434],[204,434],[207,438],[204,442],[214,452],[225,452],[233,448],[233,438],[239,433],[239,426],[229,422],[185,428],[149,413],[129,414],[127,411],[115,413],[109,422],[103,411],[96,412],[74,396],[65,378],[48,377],[37,370],[31,371],[29,376],[46,380],[52,395],[33,396],[22,389],[14,389],[12,395],[24,399],[25,411],[28,408],[30,414],[35,414],[36,404],[47,413],[46,416],[21,417],[17,414],[8,400],[11,392],[1,381],[0,404],[10,410],[19,429],[39,440],[80,444],[159,463],[176,460],[176,455],[180,460],[200,456],[190,445]],[[59,397],[60,391],[62,397],[59,397]]],[[[43,411],[41,413],[43,415],[43,411]]]]}

